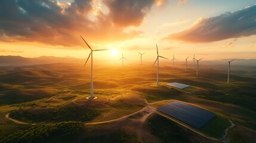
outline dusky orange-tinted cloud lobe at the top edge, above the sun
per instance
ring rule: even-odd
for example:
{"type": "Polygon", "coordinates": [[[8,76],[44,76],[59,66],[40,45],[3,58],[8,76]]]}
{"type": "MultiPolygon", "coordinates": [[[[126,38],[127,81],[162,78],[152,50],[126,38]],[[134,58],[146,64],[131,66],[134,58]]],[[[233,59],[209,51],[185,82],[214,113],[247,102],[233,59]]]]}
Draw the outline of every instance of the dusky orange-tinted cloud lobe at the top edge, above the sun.
{"type": "Polygon", "coordinates": [[[138,26],[155,0],[105,0],[113,23],[121,26],[138,26]]]}

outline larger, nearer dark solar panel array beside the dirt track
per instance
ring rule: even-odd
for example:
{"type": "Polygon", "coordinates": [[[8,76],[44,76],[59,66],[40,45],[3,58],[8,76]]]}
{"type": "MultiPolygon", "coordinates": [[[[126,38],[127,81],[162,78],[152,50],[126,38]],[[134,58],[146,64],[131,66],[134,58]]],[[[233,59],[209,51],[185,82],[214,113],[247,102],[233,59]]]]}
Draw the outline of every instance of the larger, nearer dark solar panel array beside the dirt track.
{"type": "Polygon", "coordinates": [[[163,105],[158,110],[198,129],[215,116],[202,108],[178,101],[163,105]]]}

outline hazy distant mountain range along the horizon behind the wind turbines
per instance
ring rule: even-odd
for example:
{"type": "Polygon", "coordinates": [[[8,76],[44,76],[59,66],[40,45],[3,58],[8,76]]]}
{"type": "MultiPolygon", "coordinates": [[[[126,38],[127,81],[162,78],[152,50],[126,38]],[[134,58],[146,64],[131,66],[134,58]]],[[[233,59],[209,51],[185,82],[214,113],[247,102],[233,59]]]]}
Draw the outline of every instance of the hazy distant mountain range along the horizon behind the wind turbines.
{"type": "MultiPolygon", "coordinates": [[[[97,61],[97,60],[95,60],[97,61]]],[[[200,64],[204,65],[226,65],[227,61],[230,59],[222,59],[222,60],[202,60],[200,64]]],[[[73,57],[52,57],[52,56],[42,56],[38,58],[24,58],[20,56],[0,56],[0,66],[30,66],[34,64],[53,64],[53,63],[78,63],[84,64],[85,59],[73,58],[73,57]]],[[[118,60],[117,60],[118,62],[118,60]]],[[[130,61],[131,63],[137,61],[130,61]]],[[[153,61],[152,61],[153,62],[153,61]]],[[[144,61],[144,64],[152,64],[152,62],[144,61]]],[[[184,64],[184,61],[175,61],[177,64],[184,64]]],[[[189,63],[192,60],[188,61],[189,63]]],[[[169,61],[163,61],[163,64],[168,64],[169,61]]],[[[232,62],[233,66],[255,66],[256,67],[256,59],[236,59],[232,62]]]]}

